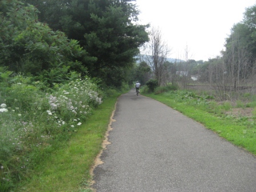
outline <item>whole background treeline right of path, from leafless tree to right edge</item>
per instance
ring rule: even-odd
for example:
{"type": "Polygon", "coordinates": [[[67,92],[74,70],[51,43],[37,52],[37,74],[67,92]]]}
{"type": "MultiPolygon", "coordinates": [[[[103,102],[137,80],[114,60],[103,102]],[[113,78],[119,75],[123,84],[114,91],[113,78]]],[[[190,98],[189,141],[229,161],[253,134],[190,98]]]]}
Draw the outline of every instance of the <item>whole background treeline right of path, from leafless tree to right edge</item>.
{"type": "Polygon", "coordinates": [[[159,85],[168,85],[170,82],[185,88],[191,84],[208,85],[209,89],[217,89],[221,99],[237,97],[244,89],[255,93],[256,5],[247,8],[243,20],[232,27],[226,38],[225,50],[220,51],[221,56],[209,58],[208,61],[190,59],[186,48],[184,58],[168,62],[163,54],[167,53],[168,48],[161,34],[156,30],[151,33],[150,39],[153,48],[160,47],[161,50],[151,48],[143,61],[151,66],[159,85]]]}

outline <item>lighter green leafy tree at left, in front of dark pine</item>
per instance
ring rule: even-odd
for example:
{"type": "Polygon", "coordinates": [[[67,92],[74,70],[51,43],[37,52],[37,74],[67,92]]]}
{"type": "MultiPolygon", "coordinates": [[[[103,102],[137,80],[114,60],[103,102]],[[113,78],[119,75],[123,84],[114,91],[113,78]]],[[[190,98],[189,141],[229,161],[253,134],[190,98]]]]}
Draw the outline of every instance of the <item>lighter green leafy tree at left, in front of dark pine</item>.
{"type": "Polygon", "coordinates": [[[78,41],[38,21],[38,10],[18,0],[0,2],[0,66],[15,73],[61,82],[70,71],[85,72],[77,59],[86,51],[78,41]]]}

